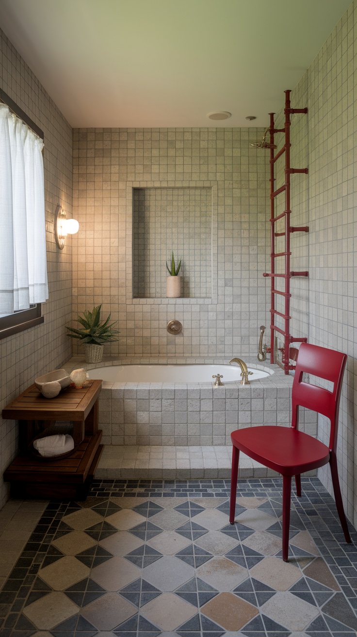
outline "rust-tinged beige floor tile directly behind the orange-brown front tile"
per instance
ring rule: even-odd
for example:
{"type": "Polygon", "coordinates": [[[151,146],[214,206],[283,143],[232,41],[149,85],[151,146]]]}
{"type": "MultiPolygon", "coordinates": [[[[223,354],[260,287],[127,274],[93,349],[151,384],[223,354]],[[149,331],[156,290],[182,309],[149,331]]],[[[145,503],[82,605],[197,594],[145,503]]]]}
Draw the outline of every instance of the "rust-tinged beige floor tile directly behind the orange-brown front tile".
{"type": "Polygon", "coordinates": [[[197,576],[214,589],[225,592],[244,582],[248,577],[248,571],[227,557],[213,557],[199,566],[197,576]]]}

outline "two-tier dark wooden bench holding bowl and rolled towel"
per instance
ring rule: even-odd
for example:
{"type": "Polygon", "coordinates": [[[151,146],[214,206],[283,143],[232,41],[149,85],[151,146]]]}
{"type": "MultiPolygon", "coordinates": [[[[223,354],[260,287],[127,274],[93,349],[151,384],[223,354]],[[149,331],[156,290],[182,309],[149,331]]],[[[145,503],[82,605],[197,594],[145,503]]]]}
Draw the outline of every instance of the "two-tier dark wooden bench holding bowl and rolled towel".
{"type": "Polygon", "coordinates": [[[101,387],[101,380],[88,380],[81,389],[67,387],[48,399],[31,385],[4,408],[3,418],[19,421],[19,455],[4,473],[14,496],[85,499],[103,448],[98,430],[101,387]],[[73,452],[59,459],[35,457],[33,441],[54,433],[55,421],[73,422],[73,452]]]}

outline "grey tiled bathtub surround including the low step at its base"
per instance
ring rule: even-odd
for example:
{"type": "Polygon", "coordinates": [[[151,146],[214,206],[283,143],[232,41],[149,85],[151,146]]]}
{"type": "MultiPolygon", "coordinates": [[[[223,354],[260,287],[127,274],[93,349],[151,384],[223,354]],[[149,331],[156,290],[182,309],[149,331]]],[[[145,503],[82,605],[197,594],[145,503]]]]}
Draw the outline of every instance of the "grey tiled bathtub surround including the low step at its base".
{"type": "MultiPolygon", "coordinates": [[[[160,359],[106,359],[97,364],[155,364],[160,359]]],[[[169,364],[227,364],[223,359],[168,359],[169,364]]],[[[256,359],[248,366],[263,369],[256,359]]],[[[83,366],[73,357],[68,371],[83,366]]],[[[104,453],[96,476],[102,478],[227,478],[230,433],[239,427],[290,424],[293,378],[277,367],[274,374],[251,385],[213,383],[112,383],[104,381],[99,397],[99,426],[104,453]]],[[[95,368],[87,365],[87,368],[95,368]]],[[[271,369],[270,366],[267,368],[271,369]]],[[[223,378],[224,380],[224,378],[223,378]]],[[[316,417],[301,413],[300,427],[316,435],[316,417]]],[[[242,477],[268,473],[242,457],[242,477]]],[[[275,474],[274,474],[275,475],[275,474]]]]}

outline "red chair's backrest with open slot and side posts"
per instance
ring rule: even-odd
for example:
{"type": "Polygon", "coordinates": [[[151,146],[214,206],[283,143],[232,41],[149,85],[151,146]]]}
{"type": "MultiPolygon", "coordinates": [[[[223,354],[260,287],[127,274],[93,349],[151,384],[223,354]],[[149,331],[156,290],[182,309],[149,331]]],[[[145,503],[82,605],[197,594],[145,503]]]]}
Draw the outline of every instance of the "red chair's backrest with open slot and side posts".
{"type": "Polygon", "coordinates": [[[295,378],[291,393],[291,427],[298,426],[298,407],[306,407],[321,413],[331,422],[329,449],[336,450],[339,425],[340,394],[346,367],[347,354],[326,347],[302,343],[298,350],[295,378]],[[302,380],[302,375],[318,376],[333,383],[330,391],[302,380]]]}

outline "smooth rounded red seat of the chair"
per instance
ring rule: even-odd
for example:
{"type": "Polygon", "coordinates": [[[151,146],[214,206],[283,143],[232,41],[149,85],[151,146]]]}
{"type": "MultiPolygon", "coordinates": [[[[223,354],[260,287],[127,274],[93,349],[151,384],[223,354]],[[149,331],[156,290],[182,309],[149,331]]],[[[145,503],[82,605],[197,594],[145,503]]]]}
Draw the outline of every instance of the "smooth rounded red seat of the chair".
{"type": "Polygon", "coordinates": [[[291,427],[247,427],[234,431],[231,438],[239,450],[282,475],[304,473],[330,459],[326,445],[291,427]]]}

